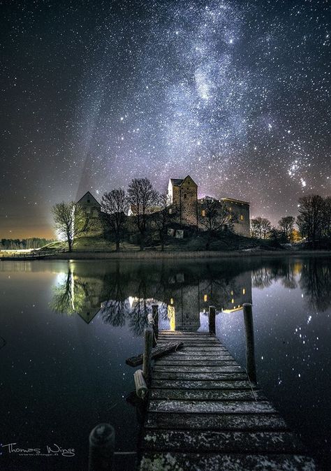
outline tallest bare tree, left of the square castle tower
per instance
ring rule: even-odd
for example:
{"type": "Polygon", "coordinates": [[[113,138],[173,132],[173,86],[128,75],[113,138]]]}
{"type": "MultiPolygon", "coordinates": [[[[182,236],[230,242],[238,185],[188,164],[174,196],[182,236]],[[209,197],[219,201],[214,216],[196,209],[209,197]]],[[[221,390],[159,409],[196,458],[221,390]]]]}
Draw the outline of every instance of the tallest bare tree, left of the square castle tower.
{"type": "Polygon", "coordinates": [[[156,209],[158,192],[148,178],[133,178],[128,186],[128,202],[131,204],[135,225],[140,233],[140,249],[145,247],[149,215],[156,209]]]}

